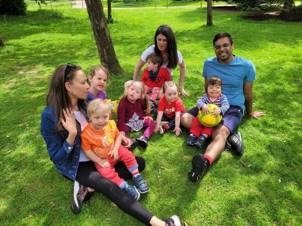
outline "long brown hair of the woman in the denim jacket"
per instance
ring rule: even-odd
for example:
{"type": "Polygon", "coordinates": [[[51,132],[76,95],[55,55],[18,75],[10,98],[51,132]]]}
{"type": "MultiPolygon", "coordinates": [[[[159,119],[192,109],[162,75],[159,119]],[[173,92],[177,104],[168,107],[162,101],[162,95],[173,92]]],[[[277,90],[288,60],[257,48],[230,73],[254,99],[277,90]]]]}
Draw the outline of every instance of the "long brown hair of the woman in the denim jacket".
{"type": "MultiPolygon", "coordinates": [[[[54,72],[53,76],[50,80],[49,92],[46,98],[47,106],[53,108],[57,118],[58,123],[56,124],[56,132],[62,134],[63,133],[63,125],[59,118],[63,118],[65,120],[63,109],[72,108],[71,99],[68,95],[68,90],[65,87],[65,83],[69,82],[72,84],[73,80],[76,77],[76,72],[82,70],[80,66],[70,67],[69,73],[65,76],[67,64],[63,64],[59,66],[54,72]]],[[[78,109],[84,113],[81,105],[81,101],[78,101],[78,109]]]]}

